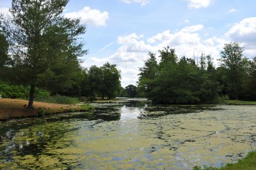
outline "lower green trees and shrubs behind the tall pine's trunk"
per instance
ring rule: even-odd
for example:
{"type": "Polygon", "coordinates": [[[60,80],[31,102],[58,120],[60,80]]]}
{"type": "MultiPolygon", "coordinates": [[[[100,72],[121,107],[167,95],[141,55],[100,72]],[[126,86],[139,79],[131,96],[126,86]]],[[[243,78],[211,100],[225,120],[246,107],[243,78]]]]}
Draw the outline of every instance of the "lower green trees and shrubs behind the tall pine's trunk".
{"type": "MultiPolygon", "coordinates": [[[[10,69],[9,73],[11,72],[10,69]]],[[[26,100],[29,98],[30,86],[28,84],[20,84],[15,75],[3,75],[2,72],[0,78],[1,97],[26,100]]],[[[119,96],[122,91],[120,70],[116,68],[116,65],[106,63],[100,67],[95,65],[90,68],[77,67],[77,72],[72,72],[70,76],[72,77],[66,79],[63,77],[65,81],[62,82],[56,77],[47,83],[38,84],[38,88],[35,88],[35,99],[58,95],[77,98],[83,96],[90,100],[95,100],[96,97],[111,99],[119,96]]]]}

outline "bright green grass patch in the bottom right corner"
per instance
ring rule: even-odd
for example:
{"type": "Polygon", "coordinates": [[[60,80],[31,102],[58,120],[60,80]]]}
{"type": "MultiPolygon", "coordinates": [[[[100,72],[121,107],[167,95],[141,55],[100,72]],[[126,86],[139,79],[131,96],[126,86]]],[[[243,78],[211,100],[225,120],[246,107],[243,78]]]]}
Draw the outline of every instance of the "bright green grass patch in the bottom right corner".
{"type": "Polygon", "coordinates": [[[234,163],[234,164],[226,164],[223,167],[220,168],[216,168],[216,167],[198,167],[195,166],[193,168],[193,170],[201,170],[201,169],[205,169],[205,170],[250,170],[250,169],[256,169],[256,151],[251,151],[248,153],[248,155],[239,160],[238,162],[234,163]]]}

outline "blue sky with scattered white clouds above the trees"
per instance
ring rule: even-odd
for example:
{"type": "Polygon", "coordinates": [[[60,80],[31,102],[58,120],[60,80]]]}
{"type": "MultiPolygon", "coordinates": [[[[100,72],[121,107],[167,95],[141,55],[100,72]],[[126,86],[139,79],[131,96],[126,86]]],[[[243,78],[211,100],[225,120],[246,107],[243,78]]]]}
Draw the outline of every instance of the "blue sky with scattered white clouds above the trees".
{"type": "MultiPolygon", "coordinates": [[[[0,0],[7,13],[11,0],[0,0]]],[[[121,71],[122,86],[136,85],[139,68],[164,47],[180,58],[210,54],[218,65],[225,43],[241,42],[256,57],[255,0],[70,0],[63,15],[81,19],[84,67],[109,62],[121,71]]]]}

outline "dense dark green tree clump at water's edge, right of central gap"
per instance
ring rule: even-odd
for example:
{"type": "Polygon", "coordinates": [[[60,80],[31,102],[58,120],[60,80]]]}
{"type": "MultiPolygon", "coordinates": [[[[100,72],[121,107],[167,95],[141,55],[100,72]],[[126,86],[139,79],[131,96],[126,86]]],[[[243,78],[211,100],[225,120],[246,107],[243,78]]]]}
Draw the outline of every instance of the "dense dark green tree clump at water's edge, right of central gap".
{"type": "MultiPolygon", "coordinates": [[[[194,59],[177,59],[174,49],[159,51],[160,63],[154,54],[140,68],[139,88],[146,97],[159,104],[209,104],[216,102],[219,84],[214,79],[211,57],[208,66],[197,66],[194,59]]],[[[206,59],[202,58],[202,59],[206,59]]]]}

